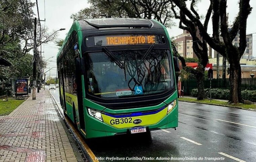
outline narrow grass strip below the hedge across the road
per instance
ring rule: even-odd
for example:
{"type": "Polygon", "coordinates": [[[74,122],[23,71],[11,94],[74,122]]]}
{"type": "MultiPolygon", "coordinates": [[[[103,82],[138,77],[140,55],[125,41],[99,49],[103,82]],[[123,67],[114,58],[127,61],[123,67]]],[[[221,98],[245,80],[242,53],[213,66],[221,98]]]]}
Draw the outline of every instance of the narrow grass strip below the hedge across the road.
{"type": "Polygon", "coordinates": [[[179,98],[179,101],[189,101],[189,102],[198,102],[203,104],[216,104],[216,105],[223,105],[223,106],[232,106],[232,107],[240,107],[244,109],[256,109],[255,104],[246,105],[246,104],[228,104],[228,102],[225,101],[219,101],[212,99],[212,102],[210,102],[210,99],[204,99],[204,100],[197,100],[196,98],[179,98]]]}

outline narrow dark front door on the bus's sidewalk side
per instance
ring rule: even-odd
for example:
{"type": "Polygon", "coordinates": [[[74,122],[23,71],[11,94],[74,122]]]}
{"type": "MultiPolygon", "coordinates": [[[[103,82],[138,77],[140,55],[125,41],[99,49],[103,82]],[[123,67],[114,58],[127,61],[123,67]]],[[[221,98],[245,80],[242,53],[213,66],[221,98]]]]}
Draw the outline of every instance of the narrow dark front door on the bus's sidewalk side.
{"type": "Polygon", "coordinates": [[[77,85],[77,102],[78,102],[78,113],[79,113],[79,124],[80,129],[85,131],[84,122],[84,108],[83,108],[83,93],[82,93],[82,78],[81,78],[81,58],[76,57],[75,59],[75,69],[76,69],[76,85],[77,85]]]}

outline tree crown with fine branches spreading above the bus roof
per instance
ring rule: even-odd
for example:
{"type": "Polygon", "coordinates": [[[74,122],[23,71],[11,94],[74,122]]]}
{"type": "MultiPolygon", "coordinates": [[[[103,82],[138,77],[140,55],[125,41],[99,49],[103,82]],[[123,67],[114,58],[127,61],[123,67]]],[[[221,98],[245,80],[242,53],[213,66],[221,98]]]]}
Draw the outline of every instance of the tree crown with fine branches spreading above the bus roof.
{"type": "Polygon", "coordinates": [[[90,19],[104,17],[133,17],[156,19],[163,25],[172,26],[170,1],[155,0],[88,0],[89,8],[72,14],[71,18],[90,19]]]}

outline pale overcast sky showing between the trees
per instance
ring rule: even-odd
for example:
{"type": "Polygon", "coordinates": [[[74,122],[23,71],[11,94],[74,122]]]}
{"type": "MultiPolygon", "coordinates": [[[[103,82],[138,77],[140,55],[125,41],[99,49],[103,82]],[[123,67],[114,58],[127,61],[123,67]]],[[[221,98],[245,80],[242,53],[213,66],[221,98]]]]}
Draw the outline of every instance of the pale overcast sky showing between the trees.
{"type": "MultiPolygon", "coordinates": [[[[32,2],[35,2],[35,0],[32,0],[32,2]]],[[[80,9],[89,6],[87,0],[39,0],[38,4],[40,19],[46,19],[45,25],[48,27],[49,31],[66,28],[66,30],[58,32],[58,38],[60,39],[65,38],[66,33],[69,31],[73,23],[70,15],[78,12],[80,9]]],[[[206,14],[209,4],[209,0],[202,0],[202,2],[198,4],[197,8],[200,15],[206,14]]],[[[228,22],[229,24],[231,24],[237,14],[237,10],[239,9],[238,0],[228,0],[227,5],[227,12],[229,13],[228,22]]],[[[247,20],[247,34],[256,33],[256,1],[251,0],[250,5],[251,7],[253,7],[253,10],[247,20]]],[[[36,8],[34,8],[34,11],[37,12],[36,8]]],[[[177,20],[174,20],[174,22],[177,24],[179,23],[179,21],[177,20]]],[[[44,22],[41,23],[44,24],[44,22]]],[[[168,31],[171,37],[177,36],[183,32],[181,29],[178,28],[178,25],[172,27],[171,29],[168,29],[168,31]]],[[[208,32],[209,34],[212,34],[211,21],[209,23],[208,32]]],[[[49,59],[52,60],[52,62],[48,64],[47,68],[56,67],[56,55],[58,53],[58,47],[53,42],[50,42],[48,44],[45,44],[43,49],[44,59],[48,59],[49,57],[54,56],[54,58],[49,59]]],[[[30,53],[33,52],[31,51],[30,53]]],[[[253,56],[256,56],[256,34],[253,34],[253,56]]],[[[46,76],[47,75],[49,75],[49,72],[46,73],[46,76]]],[[[56,68],[53,68],[51,70],[51,76],[56,76],[56,68]]]]}

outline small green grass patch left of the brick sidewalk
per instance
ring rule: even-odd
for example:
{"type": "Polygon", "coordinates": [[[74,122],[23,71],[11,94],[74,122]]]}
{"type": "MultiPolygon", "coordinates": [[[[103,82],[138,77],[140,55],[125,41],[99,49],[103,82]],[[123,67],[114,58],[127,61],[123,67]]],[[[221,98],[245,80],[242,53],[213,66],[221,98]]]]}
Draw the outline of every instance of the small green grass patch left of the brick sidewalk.
{"type": "Polygon", "coordinates": [[[8,101],[3,101],[0,99],[0,115],[10,114],[13,110],[15,110],[18,106],[20,106],[25,99],[8,99],[8,101]]]}

